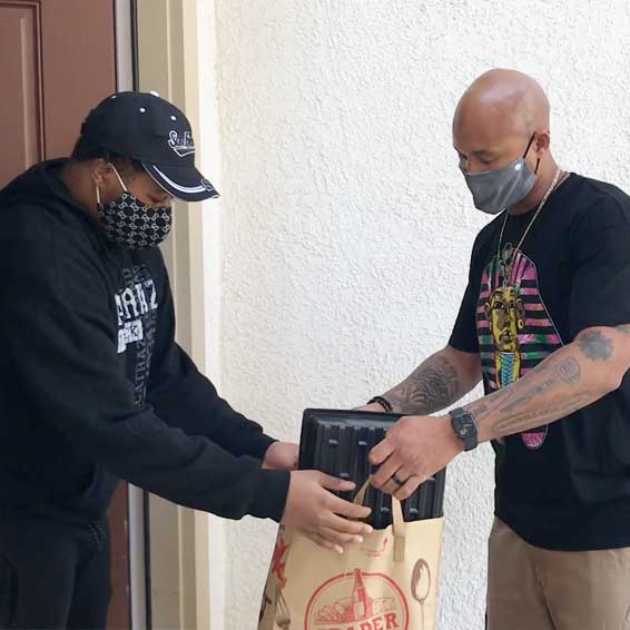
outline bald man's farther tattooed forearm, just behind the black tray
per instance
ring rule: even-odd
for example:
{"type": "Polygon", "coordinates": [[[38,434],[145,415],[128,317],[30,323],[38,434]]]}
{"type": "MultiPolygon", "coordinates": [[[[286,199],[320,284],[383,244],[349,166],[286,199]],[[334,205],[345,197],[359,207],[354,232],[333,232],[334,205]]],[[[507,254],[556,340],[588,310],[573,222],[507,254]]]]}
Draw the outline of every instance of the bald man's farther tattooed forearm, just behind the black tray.
{"type": "Polygon", "coordinates": [[[385,394],[395,412],[425,415],[457,401],[463,384],[455,366],[440,354],[420,365],[400,385],[385,394]]]}

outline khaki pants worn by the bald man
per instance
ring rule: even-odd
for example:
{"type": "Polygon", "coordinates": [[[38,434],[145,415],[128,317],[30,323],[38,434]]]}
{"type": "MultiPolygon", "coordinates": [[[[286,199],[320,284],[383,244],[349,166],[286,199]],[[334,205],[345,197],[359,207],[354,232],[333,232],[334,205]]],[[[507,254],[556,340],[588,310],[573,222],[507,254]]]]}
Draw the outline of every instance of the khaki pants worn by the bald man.
{"type": "Polygon", "coordinates": [[[488,630],[630,630],[630,548],[549,551],[495,519],[488,630]]]}

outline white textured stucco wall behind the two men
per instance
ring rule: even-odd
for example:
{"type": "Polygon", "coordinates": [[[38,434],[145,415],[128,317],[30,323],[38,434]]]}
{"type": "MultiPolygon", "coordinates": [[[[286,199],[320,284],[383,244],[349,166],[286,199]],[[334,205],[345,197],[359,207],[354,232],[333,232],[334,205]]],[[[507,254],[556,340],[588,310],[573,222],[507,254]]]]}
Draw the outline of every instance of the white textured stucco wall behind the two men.
{"type": "MultiPolygon", "coordinates": [[[[216,0],[216,19],[223,393],[284,439],[446,342],[485,222],[450,129],[476,75],[539,78],[560,163],[630,184],[628,0],[216,0]]],[[[439,628],[480,630],[488,446],[451,466],[445,510],[439,628]]],[[[249,630],[275,526],[227,531],[226,627],[249,630]]]]}

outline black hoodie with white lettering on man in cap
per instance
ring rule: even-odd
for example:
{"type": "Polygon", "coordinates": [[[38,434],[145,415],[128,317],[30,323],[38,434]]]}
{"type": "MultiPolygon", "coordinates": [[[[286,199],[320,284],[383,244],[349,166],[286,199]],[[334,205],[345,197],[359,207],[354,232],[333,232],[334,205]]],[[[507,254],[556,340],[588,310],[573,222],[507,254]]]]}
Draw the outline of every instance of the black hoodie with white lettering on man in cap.
{"type": "Polygon", "coordinates": [[[289,475],[260,470],[273,440],[175,343],[159,249],[107,244],[62,166],[0,191],[0,510],[98,520],[124,479],[279,520],[289,475]]]}

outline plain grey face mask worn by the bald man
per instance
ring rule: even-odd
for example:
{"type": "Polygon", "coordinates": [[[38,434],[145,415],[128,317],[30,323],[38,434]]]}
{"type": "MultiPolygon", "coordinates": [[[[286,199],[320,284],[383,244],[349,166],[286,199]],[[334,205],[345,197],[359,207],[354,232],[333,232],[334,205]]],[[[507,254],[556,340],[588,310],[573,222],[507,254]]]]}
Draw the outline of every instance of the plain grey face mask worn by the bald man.
{"type": "Polygon", "coordinates": [[[535,134],[530,138],[523,156],[511,161],[508,166],[481,173],[464,173],[475,208],[489,215],[498,215],[501,210],[522,201],[531,193],[540,159],[534,173],[532,173],[525,163],[525,157],[534,137],[535,134]]]}

